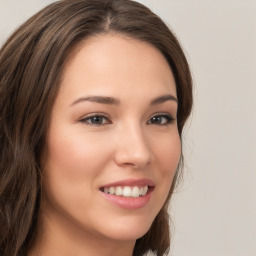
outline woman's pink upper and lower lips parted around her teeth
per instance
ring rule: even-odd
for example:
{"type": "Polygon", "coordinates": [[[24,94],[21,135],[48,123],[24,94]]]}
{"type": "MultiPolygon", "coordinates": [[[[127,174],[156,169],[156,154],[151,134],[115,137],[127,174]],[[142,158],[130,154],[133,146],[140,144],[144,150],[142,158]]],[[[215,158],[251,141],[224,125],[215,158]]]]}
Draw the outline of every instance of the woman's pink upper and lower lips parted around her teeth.
{"type": "Polygon", "coordinates": [[[152,180],[149,179],[127,179],[127,180],[120,180],[113,183],[106,184],[102,186],[101,188],[107,188],[107,187],[116,187],[116,186],[149,186],[149,190],[145,196],[140,197],[124,197],[124,196],[116,196],[111,194],[106,194],[102,190],[100,192],[104,196],[105,199],[113,203],[114,205],[117,205],[121,208],[127,209],[127,210],[136,210],[139,208],[142,208],[146,206],[151,198],[152,192],[155,187],[155,183],[152,180]]]}

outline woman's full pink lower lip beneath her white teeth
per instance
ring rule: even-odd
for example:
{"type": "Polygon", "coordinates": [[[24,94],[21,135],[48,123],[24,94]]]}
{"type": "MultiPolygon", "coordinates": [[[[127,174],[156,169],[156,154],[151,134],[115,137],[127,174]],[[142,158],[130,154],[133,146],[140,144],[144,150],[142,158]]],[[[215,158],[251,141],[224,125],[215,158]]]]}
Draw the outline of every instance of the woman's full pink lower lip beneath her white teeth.
{"type": "Polygon", "coordinates": [[[116,195],[106,194],[102,191],[100,192],[111,203],[121,208],[125,208],[127,210],[136,210],[146,206],[150,201],[151,193],[152,193],[152,191],[148,191],[148,193],[145,196],[125,197],[125,196],[116,196],[116,195]]]}

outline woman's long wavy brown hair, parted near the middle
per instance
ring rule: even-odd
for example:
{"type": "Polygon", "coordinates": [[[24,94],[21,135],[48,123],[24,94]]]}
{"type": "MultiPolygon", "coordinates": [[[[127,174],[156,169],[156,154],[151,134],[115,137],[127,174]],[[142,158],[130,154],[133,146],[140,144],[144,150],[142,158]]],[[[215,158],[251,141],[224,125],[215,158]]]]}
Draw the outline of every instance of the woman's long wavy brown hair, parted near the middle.
{"type": "MultiPolygon", "coordinates": [[[[182,135],[192,107],[191,75],[179,42],[157,15],[131,0],[63,0],[47,6],[0,50],[0,255],[26,255],[33,244],[49,118],[66,60],[82,41],[108,32],[148,42],[165,56],[176,80],[182,135]]],[[[167,207],[180,173],[178,168],[150,230],[136,241],[134,256],[168,250],[167,207]]]]}

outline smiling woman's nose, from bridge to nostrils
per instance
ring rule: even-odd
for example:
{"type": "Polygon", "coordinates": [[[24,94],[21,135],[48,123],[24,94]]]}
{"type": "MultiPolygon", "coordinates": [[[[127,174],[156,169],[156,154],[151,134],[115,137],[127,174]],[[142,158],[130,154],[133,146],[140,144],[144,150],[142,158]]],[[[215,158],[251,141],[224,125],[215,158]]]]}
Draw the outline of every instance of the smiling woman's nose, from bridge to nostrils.
{"type": "Polygon", "coordinates": [[[139,125],[129,125],[117,134],[115,162],[119,166],[142,169],[153,162],[149,140],[139,125]]]}

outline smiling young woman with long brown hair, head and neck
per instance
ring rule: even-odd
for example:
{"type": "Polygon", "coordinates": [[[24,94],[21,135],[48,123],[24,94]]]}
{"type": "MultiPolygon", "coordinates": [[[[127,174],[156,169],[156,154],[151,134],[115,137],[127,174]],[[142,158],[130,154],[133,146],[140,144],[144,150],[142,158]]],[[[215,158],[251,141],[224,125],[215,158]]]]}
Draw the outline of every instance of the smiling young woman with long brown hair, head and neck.
{"type": "Polygon", "coordinates": [[[192,83],[161,19],[64,0],[0,51],[1,255],[164,255],[192,83]]]}

